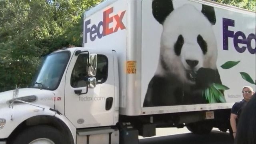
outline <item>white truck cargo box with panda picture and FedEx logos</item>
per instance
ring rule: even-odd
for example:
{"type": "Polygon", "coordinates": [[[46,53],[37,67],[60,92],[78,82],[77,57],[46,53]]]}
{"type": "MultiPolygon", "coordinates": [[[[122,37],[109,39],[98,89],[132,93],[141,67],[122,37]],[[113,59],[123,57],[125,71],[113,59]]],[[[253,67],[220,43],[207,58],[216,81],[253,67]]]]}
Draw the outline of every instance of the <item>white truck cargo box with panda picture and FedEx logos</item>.
{"type": "Polygon", "coordinates": [[[208,0],[106,1],[84,14],[83,46],[118,54],[122,115],[227,109],[255,89],[255,25],[208,0]]]}

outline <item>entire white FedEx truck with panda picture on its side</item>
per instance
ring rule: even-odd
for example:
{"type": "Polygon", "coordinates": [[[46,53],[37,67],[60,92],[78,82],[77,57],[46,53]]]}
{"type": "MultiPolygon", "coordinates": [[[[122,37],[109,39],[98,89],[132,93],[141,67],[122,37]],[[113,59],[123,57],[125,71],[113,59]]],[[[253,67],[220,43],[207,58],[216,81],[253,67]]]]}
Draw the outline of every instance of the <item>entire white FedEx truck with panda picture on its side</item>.
{"type": "Polygon", "coordinates": [[[208,0],[104,1],[84,13],[82,48],[52,52],[31,86],[0,93],[0,144],[232,131],[232,105],[255,89],[255,21],[208,0]]]}

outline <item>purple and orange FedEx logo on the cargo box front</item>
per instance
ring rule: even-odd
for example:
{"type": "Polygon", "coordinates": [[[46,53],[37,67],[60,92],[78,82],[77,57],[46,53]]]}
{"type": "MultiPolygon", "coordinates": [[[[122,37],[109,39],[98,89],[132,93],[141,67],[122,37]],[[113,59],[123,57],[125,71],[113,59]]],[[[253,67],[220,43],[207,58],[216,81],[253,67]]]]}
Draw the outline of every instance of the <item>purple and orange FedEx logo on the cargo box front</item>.
{"type": "Polygon", "coordinates": [[[122,22],[122,19],[124,18],[124,14],[126,12],[121,12],[120,15],[116,14],[114,16],[110,16],[110,14],[113,12],[113,7],[105,10],[103,12],[103,21],[100,21],[98,25],[93,24],[91,27],[89,26],[91,24],[91,20],[86,20],[84,22],[84,43],[87,43],[87,36],[90,36],[90,40],[94,41],[96,37],[102,38],[102,36],[107,36],[109,34],[112,34],[114,32],[117,32],[120,28],[121,30],[125,29],[124,23],[122,22]],[[115,24],[113,21],[115,20],[116,25],[113,27],[110,27],[110,24],[115,24]],[[100,31],[100,28],[102,27],[102,31],[100,31]]]}

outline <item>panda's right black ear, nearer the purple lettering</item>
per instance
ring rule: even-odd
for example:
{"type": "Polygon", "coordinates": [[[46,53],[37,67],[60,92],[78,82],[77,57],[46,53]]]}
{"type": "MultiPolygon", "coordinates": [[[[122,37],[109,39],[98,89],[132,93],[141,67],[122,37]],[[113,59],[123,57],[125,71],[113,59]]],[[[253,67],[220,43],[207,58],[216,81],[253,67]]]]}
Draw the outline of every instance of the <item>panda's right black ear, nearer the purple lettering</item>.
{"type": "Polygon", "coordinates": [[[201,12],[204,14],[204,16],[206,16],[212,25],[216,23],[215,11],[212,6],[206,6],[203,4],[201,12]]]}

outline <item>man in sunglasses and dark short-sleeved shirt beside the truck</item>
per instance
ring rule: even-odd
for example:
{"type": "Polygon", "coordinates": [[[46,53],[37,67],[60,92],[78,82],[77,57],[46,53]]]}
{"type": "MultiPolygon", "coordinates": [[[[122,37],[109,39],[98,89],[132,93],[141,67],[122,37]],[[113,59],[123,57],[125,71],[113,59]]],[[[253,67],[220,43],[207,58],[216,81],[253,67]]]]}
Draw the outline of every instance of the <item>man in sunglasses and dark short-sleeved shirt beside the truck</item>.
{"type": "Polygon", "coordinates": [[[236,102],[232,109],[231,109],[231,114],[230,114],[230,125],[233,131],[233,136],[234,138],[236,137],[236,127],[238,124],[238,120],[240,117],[240,114],[244,108],[244,106],[246,106],[247,102],[252,98],[252,94],[254,94],[254,91],[252,89],[252,87],[250,86],[244,86],[242,89],[242,94],[244,99],[241,100],[240,102],[236,102]]]}

